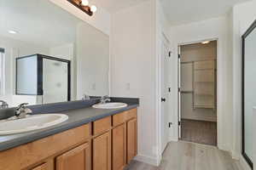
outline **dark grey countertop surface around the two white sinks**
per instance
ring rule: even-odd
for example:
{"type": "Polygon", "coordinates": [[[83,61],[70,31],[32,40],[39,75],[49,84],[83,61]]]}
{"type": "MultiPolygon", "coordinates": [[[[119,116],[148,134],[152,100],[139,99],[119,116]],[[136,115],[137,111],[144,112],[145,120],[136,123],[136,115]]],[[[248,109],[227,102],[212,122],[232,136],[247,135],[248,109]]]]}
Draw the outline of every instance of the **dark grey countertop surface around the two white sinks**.
{"type": "Polygon", "coordinates": [[[94,109],[87,106],[86,108],[73,109],[70,111],[59,111],[57,113],[66,114],[68,116],[68,120],[66,122],[29,133],[17,133],[0,136],[0,151],[8,150],[21,144],[30,143],[34,140],[43,139],[55,133],[61,133],[68,129],[84,125],[88,122],[94,122],[103,117],[112,116],[119,112],[128,111],[138,107],[138,103],[126,103],[128,106],[121,109],[94,109]]]}

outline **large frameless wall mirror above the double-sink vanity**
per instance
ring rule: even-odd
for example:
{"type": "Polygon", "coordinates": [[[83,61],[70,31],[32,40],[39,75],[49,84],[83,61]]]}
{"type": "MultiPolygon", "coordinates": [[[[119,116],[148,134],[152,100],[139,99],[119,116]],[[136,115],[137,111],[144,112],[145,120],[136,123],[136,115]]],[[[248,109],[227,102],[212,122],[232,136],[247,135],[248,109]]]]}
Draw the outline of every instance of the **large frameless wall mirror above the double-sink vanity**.
{"type": "Polygon", "coordinates": [[[0,100],[13,107],[108,95],[108,35],[49,0],[0,3],[0,100]]]}

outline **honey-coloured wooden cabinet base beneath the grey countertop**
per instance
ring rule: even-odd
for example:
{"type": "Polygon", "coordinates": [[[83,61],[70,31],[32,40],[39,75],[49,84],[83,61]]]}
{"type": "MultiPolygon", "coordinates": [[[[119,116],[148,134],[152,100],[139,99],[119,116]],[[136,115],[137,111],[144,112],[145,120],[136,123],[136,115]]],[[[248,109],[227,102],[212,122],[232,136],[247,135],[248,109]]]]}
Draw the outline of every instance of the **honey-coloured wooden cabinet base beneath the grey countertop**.
{"type": "Polygon", "coordinates": [[[137,155],[137,109],[0,151],[0,170],[123,170],[137,155]]]}

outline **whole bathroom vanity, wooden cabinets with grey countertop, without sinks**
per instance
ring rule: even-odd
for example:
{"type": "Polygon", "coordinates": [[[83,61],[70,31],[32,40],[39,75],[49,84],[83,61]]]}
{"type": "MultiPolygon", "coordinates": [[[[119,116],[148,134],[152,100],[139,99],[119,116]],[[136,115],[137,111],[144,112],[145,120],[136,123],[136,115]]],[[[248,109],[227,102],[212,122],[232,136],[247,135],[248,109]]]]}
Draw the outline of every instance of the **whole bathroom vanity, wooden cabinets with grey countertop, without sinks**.
{"type": "Polygon", "coordinates": [[[120,170],[137,155],[137,105],[62,113],[55,127],[1,136],[0,170],[120,170]]]}

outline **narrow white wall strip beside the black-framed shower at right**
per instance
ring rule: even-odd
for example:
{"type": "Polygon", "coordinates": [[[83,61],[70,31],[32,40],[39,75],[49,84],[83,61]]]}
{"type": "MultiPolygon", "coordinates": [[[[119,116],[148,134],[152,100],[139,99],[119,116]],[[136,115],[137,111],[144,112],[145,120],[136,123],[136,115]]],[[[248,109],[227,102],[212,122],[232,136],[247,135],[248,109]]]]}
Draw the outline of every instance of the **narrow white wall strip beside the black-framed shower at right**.
{"type": "MultiPolygon", "coordinates": [[[[237,4],[232,11],[233,157],[241,157],[241,36],[256,19],[256,1],[237,4]]],[[[243,162],[243,158],[241,157],[243,162]]],[[[246,163],[242,165],[247,166],[246,163]]],[[[245,167],[248,168],[248,167],[245,167]]]]}

